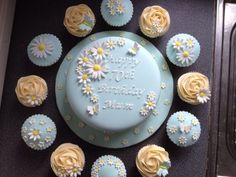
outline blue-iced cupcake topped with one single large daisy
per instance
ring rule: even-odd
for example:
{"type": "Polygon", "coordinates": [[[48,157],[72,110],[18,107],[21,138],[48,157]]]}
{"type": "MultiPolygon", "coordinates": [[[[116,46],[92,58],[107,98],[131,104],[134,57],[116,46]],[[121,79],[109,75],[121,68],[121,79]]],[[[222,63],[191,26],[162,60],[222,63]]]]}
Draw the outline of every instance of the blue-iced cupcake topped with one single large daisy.
{"type": "Polygon", "coordinates": [[[35,65],[51,66],[61,57],[62,45],[56,36],[41,34],[29,43],[27,53],[30,61],[35,65]]]}

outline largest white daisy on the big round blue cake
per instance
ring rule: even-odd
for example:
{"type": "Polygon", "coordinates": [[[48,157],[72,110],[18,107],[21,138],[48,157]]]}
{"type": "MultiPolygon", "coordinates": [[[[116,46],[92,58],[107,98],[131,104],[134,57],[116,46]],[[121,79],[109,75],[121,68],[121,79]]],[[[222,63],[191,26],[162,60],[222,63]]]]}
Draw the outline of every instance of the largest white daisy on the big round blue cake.
{"type": "Polygon", "coordinates": [[[94,59],[90,61],[87,67],[87,72],[93,79],[101,80],[101,78],[104,78],[108,72],[108,68],[102,59],[94,59]]]}

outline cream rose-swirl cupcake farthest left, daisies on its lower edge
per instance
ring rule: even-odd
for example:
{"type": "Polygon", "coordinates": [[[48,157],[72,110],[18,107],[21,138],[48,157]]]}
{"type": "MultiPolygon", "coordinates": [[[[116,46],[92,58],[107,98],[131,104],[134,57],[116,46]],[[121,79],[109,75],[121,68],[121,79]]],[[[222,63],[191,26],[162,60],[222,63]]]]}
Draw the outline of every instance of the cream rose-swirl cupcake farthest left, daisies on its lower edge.
{"type": "Polygon", "coordinates": [[[48,87],[43,78],[30,75],[18,80],[15,92],[22,105],[35,107],[40,106],[47,98],[48,87]]]}

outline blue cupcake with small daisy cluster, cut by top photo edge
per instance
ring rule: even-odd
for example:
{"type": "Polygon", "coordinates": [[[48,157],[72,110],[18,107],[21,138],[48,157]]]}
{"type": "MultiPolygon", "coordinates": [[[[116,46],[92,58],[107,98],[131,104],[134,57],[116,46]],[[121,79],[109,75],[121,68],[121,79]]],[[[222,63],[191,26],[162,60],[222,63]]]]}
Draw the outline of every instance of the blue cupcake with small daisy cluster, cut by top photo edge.
{"type": "Polygon", "coordinates": [[[103,0],[101,13],[109,25],[124,26],[133,16],[133,4],[130,0],[103,0]]]}

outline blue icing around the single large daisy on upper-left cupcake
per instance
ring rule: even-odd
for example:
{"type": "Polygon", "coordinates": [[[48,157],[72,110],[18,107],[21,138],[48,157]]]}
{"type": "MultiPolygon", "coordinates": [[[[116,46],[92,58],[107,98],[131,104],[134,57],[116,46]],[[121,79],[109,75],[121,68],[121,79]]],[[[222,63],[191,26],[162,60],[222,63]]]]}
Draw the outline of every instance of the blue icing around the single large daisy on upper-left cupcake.
{"type": "MultiPolygon", "coordinates": [[[[46,47],[47,48],[47,47],[46,47]]],[[[52,35],[52,34],[41,34],[36,36],[32,41],[29,43],[27,47],[27,53],[30,61],[38,66],[51,66],[54,63],[56,63],[59,58],[61,57],[62,53],[62,45],[60,40],[52,35]],[[44,57],[38,57],[37,55],[34,55],[32,52],[32,47],[36,46],[35,44],[44,43],[45,41],[47,44],[52,46],[52,49],[49,50],[49,53],[46,53],[46,56],[44,57]]]]}

